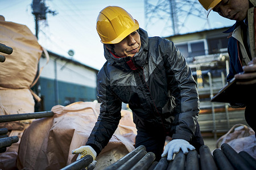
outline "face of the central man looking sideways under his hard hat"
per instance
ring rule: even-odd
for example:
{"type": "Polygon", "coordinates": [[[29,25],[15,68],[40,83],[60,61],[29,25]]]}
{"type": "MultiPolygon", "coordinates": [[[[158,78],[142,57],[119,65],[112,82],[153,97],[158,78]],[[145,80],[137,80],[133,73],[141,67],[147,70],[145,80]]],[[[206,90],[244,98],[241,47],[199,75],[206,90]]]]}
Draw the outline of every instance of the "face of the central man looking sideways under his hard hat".
{"type": "Polygon", "coordinates": [[[114,51],[119,57],[133,57],[141,48],[141,37],[138,31],[130,33],[121,42],[114,44],[114,51]]]}

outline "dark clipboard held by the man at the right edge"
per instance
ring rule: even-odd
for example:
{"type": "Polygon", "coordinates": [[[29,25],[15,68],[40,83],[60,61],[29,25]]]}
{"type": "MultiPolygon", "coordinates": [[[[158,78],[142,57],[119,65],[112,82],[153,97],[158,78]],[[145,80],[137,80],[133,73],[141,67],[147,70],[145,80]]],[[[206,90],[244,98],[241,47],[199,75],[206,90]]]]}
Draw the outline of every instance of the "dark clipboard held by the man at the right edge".
{"type": "Polygon", "coordinates": [[[228,84],[221,88],[210,101],[222,103],[255,103],[256,105],[256,84],[236,84],[233,78],[228,84]]]}

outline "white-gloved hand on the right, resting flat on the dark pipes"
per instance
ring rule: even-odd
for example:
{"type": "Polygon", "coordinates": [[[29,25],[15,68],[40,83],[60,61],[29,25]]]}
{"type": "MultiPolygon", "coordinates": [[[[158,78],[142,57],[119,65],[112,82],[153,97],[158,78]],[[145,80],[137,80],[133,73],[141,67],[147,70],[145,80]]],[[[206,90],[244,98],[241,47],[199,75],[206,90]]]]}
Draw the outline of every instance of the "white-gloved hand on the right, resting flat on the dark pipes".
{"type": "Polygon", "coordinates": [[[169,142],[164,148],[162,157],[166,157],[168,154],[167,160],[172,160],[174,154],[177,154],[180,149],[184,154],[188,154],[188,149],[195,150],[196,148],[190,145],[188,141],[185,141],[184,139],[172,139],[172,141],[169,142]]]}

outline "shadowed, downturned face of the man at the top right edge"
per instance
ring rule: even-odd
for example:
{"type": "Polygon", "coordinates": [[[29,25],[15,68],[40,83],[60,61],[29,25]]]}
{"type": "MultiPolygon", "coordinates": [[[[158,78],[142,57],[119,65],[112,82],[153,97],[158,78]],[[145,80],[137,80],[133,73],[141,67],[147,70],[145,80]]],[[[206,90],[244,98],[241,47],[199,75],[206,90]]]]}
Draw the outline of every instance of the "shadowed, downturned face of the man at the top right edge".
{"type": "Polygon", "coordinates": [[[213,11],[231,20],[242,21],[247,16],[249,0],[222,0],[213,11]]]}

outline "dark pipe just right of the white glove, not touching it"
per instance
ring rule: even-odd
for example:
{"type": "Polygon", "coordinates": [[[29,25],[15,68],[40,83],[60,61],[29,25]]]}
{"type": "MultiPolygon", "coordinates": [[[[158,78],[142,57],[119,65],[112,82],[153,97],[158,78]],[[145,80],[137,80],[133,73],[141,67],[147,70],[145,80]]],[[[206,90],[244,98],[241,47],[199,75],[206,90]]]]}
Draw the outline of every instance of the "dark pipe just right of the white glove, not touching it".
{"type": "Polygon", "coordinates": [[[199,148],[200,164],[202,170],[217,170],[217,166],[214,162],[213,156],[210,153],[210,149],[206,145],[202,145],[199,148]]]}

